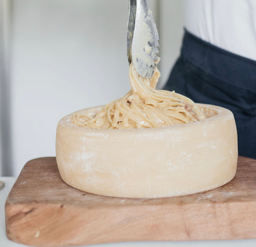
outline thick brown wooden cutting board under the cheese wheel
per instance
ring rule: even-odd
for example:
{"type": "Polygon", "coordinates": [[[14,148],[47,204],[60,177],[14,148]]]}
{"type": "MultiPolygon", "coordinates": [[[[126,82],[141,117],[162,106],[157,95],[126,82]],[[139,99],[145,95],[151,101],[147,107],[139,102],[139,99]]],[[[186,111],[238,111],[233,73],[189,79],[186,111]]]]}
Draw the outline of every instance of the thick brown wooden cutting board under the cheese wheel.
{"type": "Polygon", "coordinates": [[[61,180],[55,157],[24,166],[6,200],[6,235],[33,246],[256,238],[256,160],[208,192],[162,199],[92,195],[61,180]]]}

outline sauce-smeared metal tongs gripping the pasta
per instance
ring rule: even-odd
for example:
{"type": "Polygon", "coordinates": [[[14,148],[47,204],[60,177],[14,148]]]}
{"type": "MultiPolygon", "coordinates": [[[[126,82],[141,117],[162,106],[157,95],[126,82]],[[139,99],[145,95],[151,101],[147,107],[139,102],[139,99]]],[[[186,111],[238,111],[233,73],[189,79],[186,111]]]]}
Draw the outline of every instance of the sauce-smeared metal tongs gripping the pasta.
{"type": "Polygon", "coordinates": [[[157,65],[159,35],[147,0],[130,0],[126,49],[128,62],[143,78],[151,78],[157,65]]]}

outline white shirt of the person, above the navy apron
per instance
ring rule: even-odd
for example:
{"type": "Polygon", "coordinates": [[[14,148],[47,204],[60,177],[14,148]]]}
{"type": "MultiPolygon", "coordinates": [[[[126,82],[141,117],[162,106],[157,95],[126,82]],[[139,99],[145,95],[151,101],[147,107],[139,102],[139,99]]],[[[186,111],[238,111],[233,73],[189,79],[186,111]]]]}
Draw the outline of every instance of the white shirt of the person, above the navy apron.
{"type": "Polygon", "coordinates": [[[184,0],[185,28],[256,61],[256,0],[184,0]]]}

